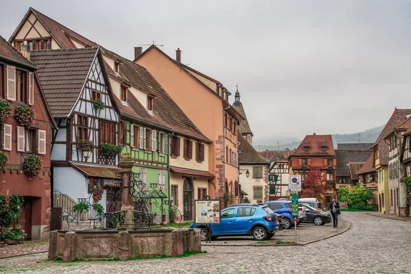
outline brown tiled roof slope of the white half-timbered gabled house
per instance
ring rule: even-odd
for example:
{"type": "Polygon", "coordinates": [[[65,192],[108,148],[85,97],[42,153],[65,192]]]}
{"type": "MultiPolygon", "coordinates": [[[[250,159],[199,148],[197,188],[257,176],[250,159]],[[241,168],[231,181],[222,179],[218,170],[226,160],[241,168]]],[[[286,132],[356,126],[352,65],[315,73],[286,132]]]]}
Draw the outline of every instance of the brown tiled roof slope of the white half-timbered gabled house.
{"type": "Polygon", "coordinates": [[[54,117],[69,115],[82,91],[96,48],[32,51],[38,77],[54,117]]]}

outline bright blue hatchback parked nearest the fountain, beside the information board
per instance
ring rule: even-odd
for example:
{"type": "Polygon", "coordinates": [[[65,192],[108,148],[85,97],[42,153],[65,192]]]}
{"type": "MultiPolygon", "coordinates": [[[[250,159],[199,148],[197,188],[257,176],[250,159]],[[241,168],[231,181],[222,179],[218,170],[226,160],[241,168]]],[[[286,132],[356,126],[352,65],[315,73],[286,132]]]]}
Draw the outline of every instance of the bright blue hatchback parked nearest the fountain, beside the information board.
{"type": "MultiPolygon", "coordinates": [[[[201,229],[201,240],[207,240],[206,225],[193,223],[190,227],[201,229]]],[[[255,240],[272,238],[279,230],[273,210],[256,203],[242,203],[221,210],[221,224],[210,225],[211,238],[220,236],[253,236],[255,240]]]]}

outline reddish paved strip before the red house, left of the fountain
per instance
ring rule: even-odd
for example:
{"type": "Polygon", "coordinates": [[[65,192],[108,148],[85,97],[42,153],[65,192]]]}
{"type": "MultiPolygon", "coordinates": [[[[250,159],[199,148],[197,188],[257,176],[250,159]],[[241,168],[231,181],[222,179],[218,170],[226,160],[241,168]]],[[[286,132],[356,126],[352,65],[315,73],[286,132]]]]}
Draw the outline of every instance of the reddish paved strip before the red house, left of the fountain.
{"type": "Polygon", "coordinates": [[[49,251],[48,240],[31,240],[23,242],[20,245],[7,245],[1,247],[0,244],[0,258],[10,258],[15,256],[23,256],[49,251]]]}

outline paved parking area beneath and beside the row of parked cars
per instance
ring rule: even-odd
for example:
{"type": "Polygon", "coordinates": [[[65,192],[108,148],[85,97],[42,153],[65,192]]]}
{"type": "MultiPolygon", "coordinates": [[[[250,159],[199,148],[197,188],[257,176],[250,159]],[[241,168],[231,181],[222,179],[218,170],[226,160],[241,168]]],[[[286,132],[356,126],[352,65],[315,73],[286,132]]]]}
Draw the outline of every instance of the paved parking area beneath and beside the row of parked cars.
{"type": "MultiPolygon", "coordinates": [[[[346,232],[351,223],[345,219],[345,212],[342,212],[338,217],[338,227],[333,227],[332,223],[325,225],[314,225],[312,223],[301,223],[297,226],[297,245],[307,245],[311,242],[330,238],[338,234],[346,232]]],[[[269,240],[256,241],[252,236],[245,237],[219,237],[212,242],[201,242],[203,247],[207,246],[284,246],[295,245],[294,227],[292,229],[284,229],[276,232],[275,236],[269,240]]]]}

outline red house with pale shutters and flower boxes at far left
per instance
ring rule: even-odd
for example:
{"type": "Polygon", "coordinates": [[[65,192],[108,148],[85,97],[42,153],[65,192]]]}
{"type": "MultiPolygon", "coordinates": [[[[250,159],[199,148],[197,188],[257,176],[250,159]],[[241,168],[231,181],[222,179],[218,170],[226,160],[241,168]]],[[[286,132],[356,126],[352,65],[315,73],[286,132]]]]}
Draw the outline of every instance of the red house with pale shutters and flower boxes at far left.
{"type": "Polygon", "coordinates": [[[27,48],[21,46],[23,57],[0,36],[0,155],[6,159],[5,165],[0,163],[0,192],[23,197],[19,223],[27,238],[42,239],[49,232],[50,136],[56,126],[27,48]],[[33,113],[32,124],[17,110],[33,113]],[[38,175],[29,175],[23,167],[28,158],[42,163],[38,175]]]}

